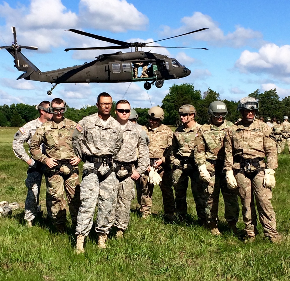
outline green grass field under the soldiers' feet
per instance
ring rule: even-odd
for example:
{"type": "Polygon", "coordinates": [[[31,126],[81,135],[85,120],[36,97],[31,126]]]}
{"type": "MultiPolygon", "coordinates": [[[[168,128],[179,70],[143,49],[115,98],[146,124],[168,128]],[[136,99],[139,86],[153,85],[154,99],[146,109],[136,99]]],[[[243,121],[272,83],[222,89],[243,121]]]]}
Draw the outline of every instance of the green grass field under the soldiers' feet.
{"type": "Polygon", "coordinates": [[[131,222],[124,239],[112,234],[107,249],[97,248],[91,231],[86,253],[75,254],[75,238],[70,231],[58,234],[46,219],[45,183],[40,201],[44,215],[35,226],[24,221],[27,165],[11,148],[17,128],[0,128],[0,201],[19,202],[12,216],[0,218],[0,280],[289,280],[290,279],[290,157],[279,156],[273,206],[282,244],[271,244],[260,235],[253,243],[242,239],[244,223],[238,221],[239,234],[233,236],[223,218],[220,200],[220,237],[214,237],[197,223],[193,197],[188,189],[189,222],[166,224],[162,220],[159,187],[154,190],[154,215],[140,220],[137,201],[132,203],[131,222]]]}

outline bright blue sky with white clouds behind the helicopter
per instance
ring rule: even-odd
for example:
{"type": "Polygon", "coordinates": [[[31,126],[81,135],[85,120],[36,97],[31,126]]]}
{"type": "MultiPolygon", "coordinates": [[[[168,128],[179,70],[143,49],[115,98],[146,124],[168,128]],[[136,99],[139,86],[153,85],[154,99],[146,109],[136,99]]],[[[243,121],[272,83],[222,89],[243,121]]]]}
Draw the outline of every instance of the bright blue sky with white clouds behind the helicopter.
{"type": "MultiPolygon", "coordinates": [[[[286,0],[0,1],[0,45],[12,43],[11,26],[15,26],[19,44],[38,46],[38,51],[22,52],[44,72],[93,61],[95,56],[105,53],[103,50],[64,52],[65,48],[105,45],[66,29],[127,42],[149,42],[207,27],[209,30],[160,43],[209,50],[152,50],[176,58],[191,70],[188,77],[166,81],[160,89],[153,86],[148,91],[153,105],[161,105],[173,83],[193,83],[201,92],[210,87],[222,99],[235,101],[256,89],[264,92],[271,88],[276,88],[280,98],[284,98],[290,95],[289,10],[290,2],[286,0]]],[[[117,101],[129,87],[129,83],[60,84],[48,96],[49,83],[16,81],[22,72],[13,67],[13,58],[6,50],[0,53],[1,105],[36,104],[61,97],[68,105],[80,108],[95,104],[97,95],[104,91],[117,101]]],[[[133,107],[151,106],[142,82],[132,83],[125,98],[133,107]]]]}

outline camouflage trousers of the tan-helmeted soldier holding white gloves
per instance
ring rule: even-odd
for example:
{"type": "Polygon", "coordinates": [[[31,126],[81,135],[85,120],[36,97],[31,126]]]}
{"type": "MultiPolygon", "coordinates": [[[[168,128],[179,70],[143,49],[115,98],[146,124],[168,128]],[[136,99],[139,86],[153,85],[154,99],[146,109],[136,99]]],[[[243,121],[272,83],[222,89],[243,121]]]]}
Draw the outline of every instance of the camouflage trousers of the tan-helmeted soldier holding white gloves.
{"type": "MultiPolygon", "coordinates": [[[[148,174],[149,172],[146,171],[144,176],[140,179],[142,185],[140,212],[151,214],[154,185],[148,182],[148,174]]],[[[175,202],[172,189],[172,172],[168,167],[166,172],[163,170],[159,175],[162,178],[159,186],[162,192],[164,213],[173,214],[175,211],[175,202]]]]}

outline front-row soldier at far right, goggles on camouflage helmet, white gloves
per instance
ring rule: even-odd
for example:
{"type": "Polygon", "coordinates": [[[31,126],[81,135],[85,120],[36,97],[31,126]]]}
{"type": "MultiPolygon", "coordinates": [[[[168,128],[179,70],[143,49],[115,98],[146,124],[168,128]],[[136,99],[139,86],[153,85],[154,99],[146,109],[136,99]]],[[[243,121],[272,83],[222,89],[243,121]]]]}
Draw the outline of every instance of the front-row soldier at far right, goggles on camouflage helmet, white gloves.
{"type": "Polygon", "coordinates": [[[274,169],[278,166],[276,139],[269,126],[254,118],[258,108],[258,102],[251,97],[242,98],[238,104],[242,121],[231,127],[225,136],[224,171],[228,188],[238,188],[248,240],[255,240],[258,234],[255,196],[264,235],[277,242],[280,237],[271,204],[274,169]]]}

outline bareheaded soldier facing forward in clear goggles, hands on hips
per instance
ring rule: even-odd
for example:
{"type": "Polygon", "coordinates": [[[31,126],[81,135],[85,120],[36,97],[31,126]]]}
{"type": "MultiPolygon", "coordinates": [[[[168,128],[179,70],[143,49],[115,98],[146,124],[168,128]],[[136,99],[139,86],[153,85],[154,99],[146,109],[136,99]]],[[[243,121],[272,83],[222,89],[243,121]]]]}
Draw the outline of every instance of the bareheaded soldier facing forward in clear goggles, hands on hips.
{"type": "Polygon", "coordinates": [[[64,118],[66,110],[66,103],[54,98],[49,109],[53,113],[52,119],[36,130],[30,146],[32,157],[49,168],[46,171],[46,207],[48,216],[59,232],[64,231],[66,223],[64,191],[73,226],[80,205],[78,164],[81,159],[75,155],[72,144],[72,134],[77,124],[64,118]],[[42,143],[45,153],[41,150],[42,143]]]}

